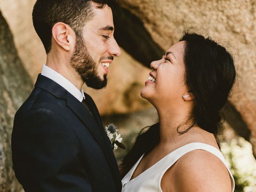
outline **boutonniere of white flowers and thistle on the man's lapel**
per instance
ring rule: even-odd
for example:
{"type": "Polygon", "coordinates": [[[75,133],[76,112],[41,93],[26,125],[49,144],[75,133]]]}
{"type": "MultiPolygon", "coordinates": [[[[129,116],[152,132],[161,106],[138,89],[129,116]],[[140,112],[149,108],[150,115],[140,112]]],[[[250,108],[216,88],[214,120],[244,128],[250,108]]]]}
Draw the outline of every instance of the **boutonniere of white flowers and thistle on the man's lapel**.
{"type": "Polygon", "coordinates": [[[116,150],[118,147],[120,147],[121,149],[125,149],[124,144],[121,143],[123,138],[121,137],[120,134],[118,134],[118,129],[113,123],[108,124],[105,127],[105,130],[111,142],[111,148],[113,150],[116,150]]]}

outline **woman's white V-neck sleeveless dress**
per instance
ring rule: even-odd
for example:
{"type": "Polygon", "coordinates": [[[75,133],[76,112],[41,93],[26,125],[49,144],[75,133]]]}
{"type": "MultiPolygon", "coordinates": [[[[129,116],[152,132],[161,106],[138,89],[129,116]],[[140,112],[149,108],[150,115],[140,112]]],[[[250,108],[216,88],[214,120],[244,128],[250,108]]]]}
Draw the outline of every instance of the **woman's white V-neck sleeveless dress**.
{"type": "Polygon", "coordinates": [[[230,180],[232,183],[232,192],[234,192],[234,188],[235,188],[234,178],[225,162],[225,159],[222,153],[214,146],[204,144],[204,143],[198,143],[198,142],[186,144],[172,151],[171,153],[166,155],[164,158],[162,158],[160,161],[158,161],[156,164],[154,164],[153,166],[151,166],[150,168],[142,172],[136,178],[130,180],[132,177],[132,174],[134,173],[136,167],[138,166],[138,164],[140,163],[140,160],[143,157],[142,155],[140,159],[136,162],[136,164],[134,164],[131,170],[122,179],[122,192],[162,192],[160,183],[164,173],[184,154],[192,150],[198,150],[198,149],[205,150],[216,155],[224,163],[230,175],[230,180]]]}

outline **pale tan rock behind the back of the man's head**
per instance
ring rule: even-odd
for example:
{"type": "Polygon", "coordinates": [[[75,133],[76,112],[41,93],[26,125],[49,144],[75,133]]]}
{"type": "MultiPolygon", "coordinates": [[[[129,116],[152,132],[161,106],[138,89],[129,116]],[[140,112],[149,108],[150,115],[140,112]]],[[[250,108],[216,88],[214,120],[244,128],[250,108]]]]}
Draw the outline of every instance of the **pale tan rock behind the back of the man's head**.
{"type": "Polygon", "coordinates": [[[14,43],[24,68],[33,82],[46,62],[44,46],[32,23],[36,0],[1,0],[0,9],[14,36],[14,43]]]}

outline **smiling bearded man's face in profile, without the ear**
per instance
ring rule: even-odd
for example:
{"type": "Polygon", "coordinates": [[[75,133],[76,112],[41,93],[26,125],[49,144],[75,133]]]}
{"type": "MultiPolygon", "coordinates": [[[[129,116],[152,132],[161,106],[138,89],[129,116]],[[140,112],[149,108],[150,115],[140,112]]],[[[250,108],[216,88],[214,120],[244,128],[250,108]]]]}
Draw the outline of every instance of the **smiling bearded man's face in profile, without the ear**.
{"type": "Polygon", "coordinates": [[[108,66],[114,57],[120,56],[120,48],[114,39],[114,24],[109,6],[95,8],[94,16],[86,22],[81,35],[76,37],[76,47],[71,65],[88,87],[104,88],[107,84],[108,66]]]}

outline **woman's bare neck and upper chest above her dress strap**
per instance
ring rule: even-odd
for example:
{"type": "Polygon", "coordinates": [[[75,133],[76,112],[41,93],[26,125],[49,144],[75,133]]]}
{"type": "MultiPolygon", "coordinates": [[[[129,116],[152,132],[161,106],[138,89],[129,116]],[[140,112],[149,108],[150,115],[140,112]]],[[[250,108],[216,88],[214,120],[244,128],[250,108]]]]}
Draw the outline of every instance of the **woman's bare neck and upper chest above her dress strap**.
{"type": "Polygon", "coordinates": [[[159,128],[160,142],[158,147],[168,152],[191,142],[203,142],[218,148],[214,134],[203,130],[199,126],[193,126],[188,132],[180,134],[179,132],[187,130],[193,123],[193,119],[188,121],[192,108],[182,107],[172,110],[159,110],[159,128]],[[177,130],[178,129],[178,130],[177,130]]]}

